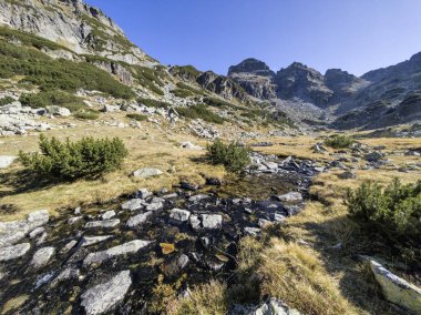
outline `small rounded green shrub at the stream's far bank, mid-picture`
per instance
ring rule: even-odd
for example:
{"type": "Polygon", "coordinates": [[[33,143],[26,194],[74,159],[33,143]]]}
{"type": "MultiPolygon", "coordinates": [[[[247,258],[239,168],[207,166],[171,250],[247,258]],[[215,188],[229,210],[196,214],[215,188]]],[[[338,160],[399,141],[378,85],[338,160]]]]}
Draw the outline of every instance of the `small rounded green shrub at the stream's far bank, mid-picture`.
{"type": "Polygon", "coordinates": [[[247,146],[242,146],[237,142],[225,144],[220,140],[207,145],[206,156],[213,164],[222,164],[229,172],[239,173],[249,163],[250,150],[247,146]]]}

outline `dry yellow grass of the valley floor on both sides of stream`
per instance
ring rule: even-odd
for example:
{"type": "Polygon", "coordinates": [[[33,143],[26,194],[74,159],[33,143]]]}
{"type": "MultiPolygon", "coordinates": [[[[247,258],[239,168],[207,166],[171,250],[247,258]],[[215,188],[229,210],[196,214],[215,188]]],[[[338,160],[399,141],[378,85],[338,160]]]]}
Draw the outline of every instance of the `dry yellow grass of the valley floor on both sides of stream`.
{"type": "MultiPolygon", "coordinates": [[[[207,177],[226,179],[220,166],[203,161],[205,150],[183,149],[181,143],[191,141],[202,148],[207,141],[189,134],[183,125],[170,128],[144,123],[142,129],[109,125],[78,124],[74,128],[45,132],[48,136],[72,141],[85,135],[95,138],[119,136],[129,149],[130,156],[121,170],[97,180],[72,183],[41,183],[23,172],[19,162],[0,170],[0,221],[24,219],[28,213],[47,209],[57,217],[69,209],[92,203],[105,203],[140,187],[157,191],[172,190],[182,180],[204,184],[207,177]],[[130,176],[142,167],[163,172],[152,179],[130,176]]],[[[0,139],[0,155],[17,155],[20,150],[35,151],[38,134],[0,139]]],[[[356,169],[356,179],[342,180],[340,169],[331,169],[314,179],[310,201],[305,210],[280,225],[265,228],[263,241],[245,237],[240,242],[236,287],[212,282],[192,288],[188,298],[163,296],[168,313],[224,314],[232,302],[249,302],[266,296],[281,298],[304,314],[404,314],[383,298],[379,286],[366,263],[358,254],[373,254],[381,261],[393,258],[381,240],[367,240],[363,231],[347,216],[343,204],[345,189],[357,187],[364,180],[387,184],[392,177],[404,183],[421,177],[420,158],[408,156],[408,150],[419,150],[420,139],[361,139],[370,148],[384,145],[389,163],[378,169],[363,170],[363,161],[352,162],[349,151],[328,149],[315,153],[312,145],[322,142],[318,135],[256,138],[248,144],[270,142],[271,146],[253,148],[265,154],[280,158],[292,155],[309,159],[320,165],[342,159],[342,164],[356,169]],[[383,251],[384,250],[384,251],[383,251]],[[212,299],[208,297],[213,296],[212,299]]],[[[398,263],[397,272],[408,280],[420,283],[419,274],[405,274],[398,263]]],[[[13,309],[9,301],[2,312],[13,309]]]]}

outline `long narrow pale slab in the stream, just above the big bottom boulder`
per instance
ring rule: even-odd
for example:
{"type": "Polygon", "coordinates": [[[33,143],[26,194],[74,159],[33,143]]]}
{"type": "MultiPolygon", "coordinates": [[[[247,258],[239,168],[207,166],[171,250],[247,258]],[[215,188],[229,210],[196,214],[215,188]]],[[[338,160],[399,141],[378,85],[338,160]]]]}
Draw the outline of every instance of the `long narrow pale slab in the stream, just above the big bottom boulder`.
{"type": "Polygon", "coordinates": [[[83,265],[89,266],[91,264],[101,264],[102,262],[111,260],[115,256],[133,254],[143,247],[146,247],[148,244],[151,244],[150,241],[135,240],[115,247],[111,247],[106,251],[91,253],[84,258],[83,265]]]}

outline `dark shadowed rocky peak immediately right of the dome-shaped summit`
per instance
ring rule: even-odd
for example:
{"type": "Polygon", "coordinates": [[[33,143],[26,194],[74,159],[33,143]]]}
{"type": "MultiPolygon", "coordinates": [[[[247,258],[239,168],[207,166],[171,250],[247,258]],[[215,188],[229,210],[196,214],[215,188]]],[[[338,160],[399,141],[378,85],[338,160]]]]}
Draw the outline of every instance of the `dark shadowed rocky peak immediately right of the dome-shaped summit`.
{"type": "Polygon", "coordinates": [[[279,70],[275,80],[280,99],[299,98],[318,106],[326,106],[333,95],[320,72],[299,62],[279,70]]]}

